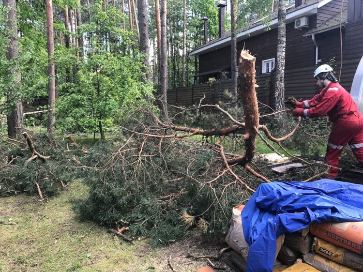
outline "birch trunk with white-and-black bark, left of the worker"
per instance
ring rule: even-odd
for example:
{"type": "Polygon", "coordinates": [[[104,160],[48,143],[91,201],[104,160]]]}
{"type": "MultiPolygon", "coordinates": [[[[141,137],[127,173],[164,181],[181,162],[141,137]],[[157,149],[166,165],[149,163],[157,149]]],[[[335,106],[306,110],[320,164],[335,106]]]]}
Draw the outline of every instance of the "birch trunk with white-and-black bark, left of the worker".
{"type": "MultiPolygon", "coordinates": [[[[277,58],[276,58],[276,81],[275,81],[275,109],[277,111],[285,108],[285,53],[286,53],[286,0],[279,0],[278,27],[277,27],[277,58]]],[[[278,114],[280,131],[287,132],[286,113],[278,114]]]]}

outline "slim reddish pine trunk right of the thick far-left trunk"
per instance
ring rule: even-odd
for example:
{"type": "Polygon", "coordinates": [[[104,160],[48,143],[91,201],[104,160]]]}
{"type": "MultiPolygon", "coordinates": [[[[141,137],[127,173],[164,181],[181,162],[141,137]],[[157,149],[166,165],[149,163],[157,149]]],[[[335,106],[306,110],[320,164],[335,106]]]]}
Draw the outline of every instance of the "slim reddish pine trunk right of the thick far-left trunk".
{"type": "Polygon", "coordinates": [[[52,0],[45,0],[46,4],[46,39],[48,50],[48,125],[47,131],[52,133],[54,131],[55,117],[53,110],[55,109],[56,102],[56,89],[55,89],[55,71],[54,71],[54,34],[53,34],[53,6],[52,0]]]}

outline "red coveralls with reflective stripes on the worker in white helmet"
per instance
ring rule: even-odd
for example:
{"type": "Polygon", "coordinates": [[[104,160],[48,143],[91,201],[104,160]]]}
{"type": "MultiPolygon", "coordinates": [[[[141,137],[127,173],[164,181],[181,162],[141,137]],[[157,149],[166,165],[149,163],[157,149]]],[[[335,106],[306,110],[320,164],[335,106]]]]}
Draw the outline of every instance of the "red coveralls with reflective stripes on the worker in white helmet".
{"type": "MultiPolygon", "coordinates": [[[[306,119],[328,114],[333,129],[328,139],[325,159],[330,166],[339,167],[339,156],[345,145],[363,166],[363,117],[357,104],[339,83],[331,82],[310,100],[297,104],[294,116],[306,119]]],[[[338,168],[329,169],[329,177],[338,175],[338,168]]]]}

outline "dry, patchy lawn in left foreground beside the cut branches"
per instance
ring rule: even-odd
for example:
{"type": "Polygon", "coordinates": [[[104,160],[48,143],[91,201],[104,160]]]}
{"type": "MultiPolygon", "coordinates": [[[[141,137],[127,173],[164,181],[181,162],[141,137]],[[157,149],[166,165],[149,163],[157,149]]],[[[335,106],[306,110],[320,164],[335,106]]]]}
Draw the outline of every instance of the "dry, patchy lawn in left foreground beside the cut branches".
{"type": "Polygon", "coordinates": [[[24,194],[0,198],[0,219],[16,223],[0,225],[0,271],[146,271],[155,252],[142,261],[135,255],[146,242],[120,243],[105,228],[76,220],[70,200],[86,192],[75,181],[48,202],[24,194]]]}

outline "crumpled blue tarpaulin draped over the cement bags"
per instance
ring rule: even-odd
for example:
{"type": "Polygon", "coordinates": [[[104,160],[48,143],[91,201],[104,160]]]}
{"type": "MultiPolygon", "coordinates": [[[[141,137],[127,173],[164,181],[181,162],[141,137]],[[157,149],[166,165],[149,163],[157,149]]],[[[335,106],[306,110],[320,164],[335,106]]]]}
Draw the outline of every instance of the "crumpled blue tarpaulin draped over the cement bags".
{"type": "Polygon", "coordinates": [[[276,238],[312,223],[363,221],[363,185],[322,179],[258,186],[242,210],[247,272],[272,272],[276,238]]]}

